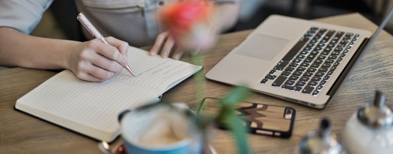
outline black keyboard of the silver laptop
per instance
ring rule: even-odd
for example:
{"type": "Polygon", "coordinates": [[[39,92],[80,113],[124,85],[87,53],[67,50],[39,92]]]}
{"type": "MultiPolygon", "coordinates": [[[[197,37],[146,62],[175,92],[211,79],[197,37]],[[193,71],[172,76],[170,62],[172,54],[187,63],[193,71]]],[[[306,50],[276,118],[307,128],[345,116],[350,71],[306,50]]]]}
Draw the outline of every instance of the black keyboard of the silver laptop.
{"type": "Polygon", "coordinates": [[[358,38],[311,27],[260,83],[317,96],[358,38]]]}

